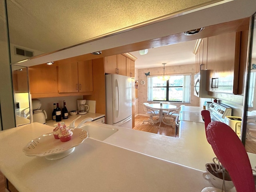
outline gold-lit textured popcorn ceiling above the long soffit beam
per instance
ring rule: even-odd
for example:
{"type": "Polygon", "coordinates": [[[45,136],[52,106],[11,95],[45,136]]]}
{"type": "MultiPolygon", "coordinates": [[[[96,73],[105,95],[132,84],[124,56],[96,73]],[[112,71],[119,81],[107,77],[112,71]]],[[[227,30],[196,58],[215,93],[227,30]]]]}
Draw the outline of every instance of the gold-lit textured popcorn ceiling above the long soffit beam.
{"type": "Polygon", "coordinates": [[[10,42],[52,52],[211,0],[7,0],[10,42]]]}

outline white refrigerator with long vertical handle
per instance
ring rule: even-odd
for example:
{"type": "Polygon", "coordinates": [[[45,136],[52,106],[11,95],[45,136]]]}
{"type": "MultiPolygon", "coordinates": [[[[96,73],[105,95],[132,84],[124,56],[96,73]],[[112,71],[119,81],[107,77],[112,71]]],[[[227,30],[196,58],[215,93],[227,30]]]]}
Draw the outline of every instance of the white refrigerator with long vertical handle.
{"type": "Polygon", "coordinates": [[[106,124],[132,129],[132,80],[130,77],[107,74],[106,124]]]}

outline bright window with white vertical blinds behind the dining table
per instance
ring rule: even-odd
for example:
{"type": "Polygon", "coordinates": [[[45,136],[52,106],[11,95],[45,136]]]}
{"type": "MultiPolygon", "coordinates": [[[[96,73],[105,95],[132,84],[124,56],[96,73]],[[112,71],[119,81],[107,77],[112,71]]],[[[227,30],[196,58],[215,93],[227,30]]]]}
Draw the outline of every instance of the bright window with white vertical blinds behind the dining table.
{"type": "Polygon", "coordinates": [[[167,81],[148,77],[148,100],[190,102],[191,75],[170,76],[167,81]]]}

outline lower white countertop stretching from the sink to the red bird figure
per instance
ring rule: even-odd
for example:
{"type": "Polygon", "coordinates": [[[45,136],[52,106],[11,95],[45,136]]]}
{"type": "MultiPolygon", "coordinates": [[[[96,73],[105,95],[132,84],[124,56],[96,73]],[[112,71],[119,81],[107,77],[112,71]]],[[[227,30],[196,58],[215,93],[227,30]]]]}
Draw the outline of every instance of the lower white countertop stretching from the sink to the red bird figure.
{"type": "Polygon", "coordinates": [[[180,127],[178,138],[118,127],[104,142],[204,171],[215,157],[204,124],[181,121],[180,127]]]}

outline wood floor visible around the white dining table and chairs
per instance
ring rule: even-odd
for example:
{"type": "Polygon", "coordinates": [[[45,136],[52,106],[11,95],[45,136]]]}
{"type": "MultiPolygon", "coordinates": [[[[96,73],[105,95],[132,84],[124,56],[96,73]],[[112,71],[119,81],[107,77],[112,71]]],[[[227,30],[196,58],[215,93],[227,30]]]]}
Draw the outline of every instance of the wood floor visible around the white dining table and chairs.
{"type": "Polygon", "coordinates": [[[148,120],[148,116],[136,116],[133,129],[174,137],[175,128],[172,128],[172,126],[161,123],[161,126],[158,128],[159,123],[152,125],[145,122],[143,124],[143,120],[148,120]]]}

